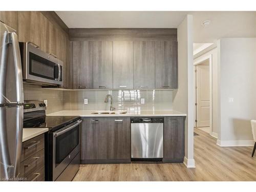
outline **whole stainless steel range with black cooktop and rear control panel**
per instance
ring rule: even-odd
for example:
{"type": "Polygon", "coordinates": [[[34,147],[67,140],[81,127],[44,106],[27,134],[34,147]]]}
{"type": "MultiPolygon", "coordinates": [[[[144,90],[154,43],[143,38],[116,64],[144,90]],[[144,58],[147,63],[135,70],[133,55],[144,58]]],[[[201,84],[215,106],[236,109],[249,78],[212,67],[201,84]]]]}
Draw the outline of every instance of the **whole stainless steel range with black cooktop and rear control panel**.
{"type": "Polygon", "coordinates": [[[46,181],[71,181],[80,165],[79,116],[46,116],[45,103],[25,101],[24,128],[49,128],[46,137],[46,181]]]}

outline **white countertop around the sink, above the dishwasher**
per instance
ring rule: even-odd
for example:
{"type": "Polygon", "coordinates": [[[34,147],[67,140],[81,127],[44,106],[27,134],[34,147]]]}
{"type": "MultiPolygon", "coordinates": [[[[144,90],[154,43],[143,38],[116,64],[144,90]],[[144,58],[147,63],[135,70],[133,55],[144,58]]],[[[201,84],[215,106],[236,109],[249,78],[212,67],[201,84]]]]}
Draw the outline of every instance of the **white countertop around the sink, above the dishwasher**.
{"type": "Polygon", "coordinates": [[[127,111],[125,114],[92,114],[99,110],[77,110],[77,111],[59,111],[50,113],[47,116],[80,116],[80,117],[148,117],[148,116],[186,116],[186,114],[174,110],[143,110],[127,111]]]}

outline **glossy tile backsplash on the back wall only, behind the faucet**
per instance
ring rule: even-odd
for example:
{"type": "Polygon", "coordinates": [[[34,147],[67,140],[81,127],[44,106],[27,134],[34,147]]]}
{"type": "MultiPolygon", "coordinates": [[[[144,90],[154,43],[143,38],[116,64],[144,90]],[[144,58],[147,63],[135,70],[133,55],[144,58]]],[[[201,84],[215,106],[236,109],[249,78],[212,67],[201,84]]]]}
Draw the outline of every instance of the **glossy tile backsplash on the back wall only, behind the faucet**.
{"type": "Polygon", "coordinates": [[[112,95],[116,110],[173,109],[171,90],[81,90],[63,92],[63,110],[110,110],[110,101],[104,102],[108,94],[112,95]],[[144,98],[144,104],[141,104],[141,98],[144,98]],[[88,99],[88,104],[83,104],[83,99],[88,99]]]}

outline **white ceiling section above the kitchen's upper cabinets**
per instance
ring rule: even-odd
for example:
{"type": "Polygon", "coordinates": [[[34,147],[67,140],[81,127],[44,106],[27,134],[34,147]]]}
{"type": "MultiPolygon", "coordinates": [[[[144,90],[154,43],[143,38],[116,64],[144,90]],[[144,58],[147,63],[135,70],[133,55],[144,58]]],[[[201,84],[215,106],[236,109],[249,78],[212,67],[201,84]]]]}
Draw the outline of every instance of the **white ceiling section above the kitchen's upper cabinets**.
{"type": "Polygon", "coordinates": [[[69,28],[177,28],[185,11],[56,11],[69,28]]]}

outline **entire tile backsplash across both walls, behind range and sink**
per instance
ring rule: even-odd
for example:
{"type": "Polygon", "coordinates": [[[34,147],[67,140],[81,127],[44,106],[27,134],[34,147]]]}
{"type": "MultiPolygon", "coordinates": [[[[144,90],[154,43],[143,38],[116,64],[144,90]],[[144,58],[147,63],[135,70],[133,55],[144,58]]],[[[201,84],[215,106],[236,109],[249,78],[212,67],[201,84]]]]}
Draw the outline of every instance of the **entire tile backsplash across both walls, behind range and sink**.
{"type": "Polygon", "coordinates": [[[112,95],[116,110],[173,109],[172,90],[61,91],[24,84],[25,100],[48,100],[47,114],[61,110],[110,110],[110,100],[104,102],[108,94],[112,95]],[[144,98],[144,104],[141,104],[141,98],[144,98]],[[84,99],[88,99],[88,104],[83,104],[84,99]]]}

